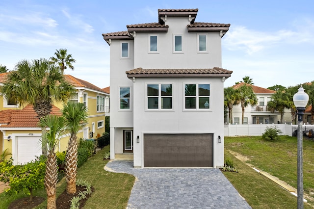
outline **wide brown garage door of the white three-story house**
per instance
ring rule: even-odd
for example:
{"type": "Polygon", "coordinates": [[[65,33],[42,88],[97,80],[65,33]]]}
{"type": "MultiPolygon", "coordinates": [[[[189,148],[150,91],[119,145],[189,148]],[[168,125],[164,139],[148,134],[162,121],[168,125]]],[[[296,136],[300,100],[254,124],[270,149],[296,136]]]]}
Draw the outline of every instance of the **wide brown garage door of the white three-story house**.
{"type": "Polygon", "coordinates": [[[144,134],[144,167],[212,167],[213,134],[144,134]]]}

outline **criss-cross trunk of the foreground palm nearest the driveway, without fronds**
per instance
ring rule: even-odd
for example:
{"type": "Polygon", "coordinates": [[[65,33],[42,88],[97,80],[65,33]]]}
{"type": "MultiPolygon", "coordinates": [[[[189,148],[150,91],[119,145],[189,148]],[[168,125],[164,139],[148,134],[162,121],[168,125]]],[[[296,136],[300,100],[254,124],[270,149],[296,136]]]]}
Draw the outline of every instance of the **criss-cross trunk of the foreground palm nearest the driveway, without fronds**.
{"type": "Polygon", "coordinates": [[[78,172],[78,142],[74,134],[68,142],[68,150],[65,156],[65,178],[67,182],[67,193],[74,194],[77,191],[76,181],[78,172]]]}

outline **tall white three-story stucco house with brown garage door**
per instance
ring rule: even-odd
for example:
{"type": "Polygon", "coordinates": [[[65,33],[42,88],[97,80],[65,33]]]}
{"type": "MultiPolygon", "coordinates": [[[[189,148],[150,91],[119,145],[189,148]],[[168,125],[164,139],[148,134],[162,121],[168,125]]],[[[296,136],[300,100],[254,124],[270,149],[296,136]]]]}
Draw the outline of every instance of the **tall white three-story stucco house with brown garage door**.
{"type": "Polygon", "coordinates": [[[158,23],[103,34],[111,159],[131,154],[136,168],[224,165],[223,89],[232,71],[221,68],[221,38],[230,24],[195,22],[197,13],[158,9],[158,23]]]}

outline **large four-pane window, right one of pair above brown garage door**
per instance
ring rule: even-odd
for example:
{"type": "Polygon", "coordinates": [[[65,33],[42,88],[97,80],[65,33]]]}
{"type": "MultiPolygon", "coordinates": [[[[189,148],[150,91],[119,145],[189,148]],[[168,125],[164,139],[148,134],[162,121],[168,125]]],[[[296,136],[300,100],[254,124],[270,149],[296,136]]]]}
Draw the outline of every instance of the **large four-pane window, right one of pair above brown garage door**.
{"type": "Polygon", "coordinates": [[[210,84],[185,84],[185,109],[209,109],[210,84]]]}

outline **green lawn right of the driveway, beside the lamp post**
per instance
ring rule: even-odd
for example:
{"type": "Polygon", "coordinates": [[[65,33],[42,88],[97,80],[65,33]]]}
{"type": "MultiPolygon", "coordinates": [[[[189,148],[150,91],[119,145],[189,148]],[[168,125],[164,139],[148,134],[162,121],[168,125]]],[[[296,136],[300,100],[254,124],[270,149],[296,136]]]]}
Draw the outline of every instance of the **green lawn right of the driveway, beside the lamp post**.
{"type": "MultiPolygon", "coordinates": [[[[225,158],[234,160],[239,173],[223,172],[252,208],[296,208],[297,198],[276,183],[258,174],[228,151],[239,153],[247,163],[297,187],[297,138],[281,136],[279,141],[264,141],[261,136],[225,137],[225,158]]],[[[314,141],[303,140],[304,192],[314,191],[314,141]]],[[[310,201],[310,200],[308,200],[310,201]]],[[[311,205],[314,205],[310,201],[311,205]]],[[[311,208],[305,203],[305,208],[311,208]]]]}

